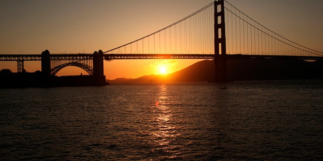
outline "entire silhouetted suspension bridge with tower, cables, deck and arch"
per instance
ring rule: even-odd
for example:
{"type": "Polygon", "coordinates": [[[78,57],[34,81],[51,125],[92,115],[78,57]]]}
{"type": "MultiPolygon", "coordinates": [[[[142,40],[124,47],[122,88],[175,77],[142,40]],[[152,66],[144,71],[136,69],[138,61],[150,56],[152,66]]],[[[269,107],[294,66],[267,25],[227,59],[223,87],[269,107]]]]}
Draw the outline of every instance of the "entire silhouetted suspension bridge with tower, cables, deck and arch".
{"type": "Polygon", "coordinates": [[[42,72],[49,75],[66,66],[103,75],[103,59],[214,59],[214,81],[226,82],[227,59],[321,60],[323,52],[291,41],[229,2],[216,0],[163,29],[105,52],[0,55],[0,61],[17,61],[18,72],[24,70],[24,61],[41,60],[42,72]]]}

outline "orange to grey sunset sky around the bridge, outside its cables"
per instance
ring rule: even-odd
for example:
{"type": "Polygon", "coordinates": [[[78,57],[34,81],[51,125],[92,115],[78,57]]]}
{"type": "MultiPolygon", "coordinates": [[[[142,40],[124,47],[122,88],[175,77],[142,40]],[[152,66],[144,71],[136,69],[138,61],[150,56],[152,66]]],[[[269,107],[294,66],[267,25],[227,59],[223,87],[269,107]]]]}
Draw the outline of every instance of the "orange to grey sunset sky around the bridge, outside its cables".
{"type": "MultiPolygon", "coordinates": [[[[323,51],[323,1],[227,0],[272,31],[308,48],[323,51]]],[[[93,53],[121,46],[194,13],[211,0],[2,0],[0,54],[93,53]]],[[[136,78],[174,72],[200,60],[104,61],[108,79],[136,78]],[[167,70],[167,71],[165,71],[167,70]]],[[[0,62],[0,69],[17,71],[16,62],[0,62]]],[[[25,61],[29,72],[40,61],[25,61]]],[[[85,74],[66,67],[57,75],[85,74]]]]}

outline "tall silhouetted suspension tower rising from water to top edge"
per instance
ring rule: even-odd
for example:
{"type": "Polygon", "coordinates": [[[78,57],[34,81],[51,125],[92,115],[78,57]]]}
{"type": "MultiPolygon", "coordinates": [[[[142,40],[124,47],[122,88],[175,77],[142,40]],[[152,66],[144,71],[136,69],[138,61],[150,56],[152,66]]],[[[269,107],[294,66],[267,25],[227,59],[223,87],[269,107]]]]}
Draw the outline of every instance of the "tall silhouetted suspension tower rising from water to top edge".
{"type": "Polygon", "coordinates": [[[227,82],[224,0],[214,1],[214,82],[227,82]]]}

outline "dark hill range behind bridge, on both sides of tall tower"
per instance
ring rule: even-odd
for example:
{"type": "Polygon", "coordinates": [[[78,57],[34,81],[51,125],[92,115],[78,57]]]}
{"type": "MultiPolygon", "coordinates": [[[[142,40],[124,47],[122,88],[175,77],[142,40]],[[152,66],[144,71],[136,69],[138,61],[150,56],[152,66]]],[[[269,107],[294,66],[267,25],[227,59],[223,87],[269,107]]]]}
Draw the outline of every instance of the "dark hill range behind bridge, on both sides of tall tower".
{"type": "MultiPolygon", "coordinates": [[[[322,79],[323,61],[229,59],[228,81],[256,81],[271,79],[322,79]]],[[[149,84],[167,82],[210,82],[214,75],[214,61],[202,60],[167,75],[144,75],[135,79],[117,78],[111,84],[149,84]]]]}

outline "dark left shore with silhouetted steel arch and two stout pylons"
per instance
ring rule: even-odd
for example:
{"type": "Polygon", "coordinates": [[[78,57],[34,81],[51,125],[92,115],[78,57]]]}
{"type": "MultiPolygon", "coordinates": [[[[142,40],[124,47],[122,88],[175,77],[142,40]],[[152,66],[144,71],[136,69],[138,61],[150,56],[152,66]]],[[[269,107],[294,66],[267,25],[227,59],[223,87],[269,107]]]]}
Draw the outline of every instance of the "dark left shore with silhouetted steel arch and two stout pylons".
{"type": "MultiPolygon", "coordinates": [[[[14,55],[16,56],[16,55],[14,55]]],[[[59,86],[105,86],[103,74],[103,53],[93,54],[53,54],[45,50],[41,55],[17,55],[18,72],[2,70],[0,72],[0,88],[22,87],[59,87],[59,86]],[[26,72],[24,60],[41,60],[41,71],[26,72]],[[55,74],[66,66],[78,66],[89,75],[56,76],[55,74]]]]}

